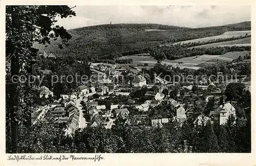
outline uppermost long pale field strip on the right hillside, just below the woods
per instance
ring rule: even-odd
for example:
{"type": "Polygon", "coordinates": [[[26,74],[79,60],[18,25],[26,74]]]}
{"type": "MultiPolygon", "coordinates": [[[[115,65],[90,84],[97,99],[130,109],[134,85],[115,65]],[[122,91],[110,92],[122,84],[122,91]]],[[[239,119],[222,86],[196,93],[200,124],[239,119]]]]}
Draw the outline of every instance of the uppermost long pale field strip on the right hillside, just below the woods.
{"type": "MultiPolygon", "coordinates": [[[[202,41],[208,41],[208,40],[212,40],[212,39],[219,39],[219,38],[231,38],[231,37],[239,37],[239,36],[245,36],[245,34],[247,33],[247,35],[251,35],[251,31],[228,31],[223,33],[222,35],[216,35],[216,36],[210,36],[210,37],[203,37],[203,38],[198,38],[198,39],[193,39],[193,40],[185,40],[185,41],[181,41],[181,42],[177,42],[177,43],[173,43],[173,44],[178,44],[178,43],[189,43],[189,42],[202,42],[202,41]]],[[[162,44],[165,46],[169,46],[172,44],[162,44]]]]}

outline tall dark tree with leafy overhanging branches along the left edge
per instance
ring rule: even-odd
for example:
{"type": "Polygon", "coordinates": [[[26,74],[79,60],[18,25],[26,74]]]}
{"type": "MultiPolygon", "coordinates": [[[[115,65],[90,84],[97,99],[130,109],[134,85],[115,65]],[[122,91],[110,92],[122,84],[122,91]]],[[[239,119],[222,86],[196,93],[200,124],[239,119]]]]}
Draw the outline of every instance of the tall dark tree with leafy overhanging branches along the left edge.
{"type": "Polygon", "coordinates": [[[68,6],[6,6],[6,59],[10,61],[6,75],[6,100],[9,101],[6,108],[7,152],[17,151],[19,127],[28,126],[30,118],[27,116],[32,104],[28,83],[12,83],[10,78],[31,75],[38,51],[32,48],[34,41],[46,44],[50,43],[50,38],[60,37],[67,43],[71,38],[63,27],[54,26],[57,16],[75,16],[75,12],[68,6]]]}

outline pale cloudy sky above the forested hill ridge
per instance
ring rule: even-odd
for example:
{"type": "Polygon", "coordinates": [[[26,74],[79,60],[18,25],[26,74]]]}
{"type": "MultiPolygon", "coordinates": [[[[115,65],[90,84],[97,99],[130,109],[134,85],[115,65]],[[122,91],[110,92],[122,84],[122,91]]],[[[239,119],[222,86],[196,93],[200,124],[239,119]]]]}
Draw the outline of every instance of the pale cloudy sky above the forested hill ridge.
{"type": "Polygon", "coordinates": [[[66,29],[110,23],[160,23],[209,27],[250,20],[250,6],[77,6],[75,17],[58,19],[66,29]]]}

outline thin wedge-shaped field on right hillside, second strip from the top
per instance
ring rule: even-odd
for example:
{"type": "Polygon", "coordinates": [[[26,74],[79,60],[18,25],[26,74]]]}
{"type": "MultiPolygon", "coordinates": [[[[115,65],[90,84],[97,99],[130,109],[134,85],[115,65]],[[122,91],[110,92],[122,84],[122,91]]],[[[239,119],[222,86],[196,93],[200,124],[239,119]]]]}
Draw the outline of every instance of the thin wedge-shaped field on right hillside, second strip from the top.
{"type": "Polygon", "coordinates": [[[233,46],[233,45],[237,45],[237,46],[251,45],[251,37],[238,39],[238,40],[230,40],[230,41],[223,41],[218,43],[198,45],[198,46],[193,46],[191,48],[212,48],[212,47],[215,48],[217,46],[233,46]]]}

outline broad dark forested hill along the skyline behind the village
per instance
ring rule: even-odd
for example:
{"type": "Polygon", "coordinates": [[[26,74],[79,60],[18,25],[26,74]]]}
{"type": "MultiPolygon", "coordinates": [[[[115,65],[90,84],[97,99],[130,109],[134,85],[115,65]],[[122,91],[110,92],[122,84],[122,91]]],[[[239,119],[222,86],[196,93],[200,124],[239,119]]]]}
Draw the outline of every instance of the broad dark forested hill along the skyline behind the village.
{"type": "MultiPolygon", "coordinates": [[[[60,40],[50,45],[34,44],[39,52],[53,53],[55,56],[69,56],[93,61],[100,55],[133,54],[142,49],[214,35],[226,31],[250,30],[250,21],[225,26],[205,28],[185,28],[158,24],[114,24],[98,25],[69,30],[72,35],[68,46],[59,48],[60,40]]],[[[104,56],[105,58],[105,56],[104,56]]]]}

